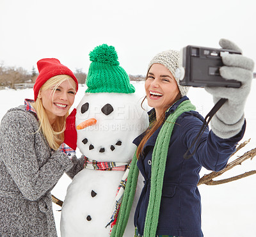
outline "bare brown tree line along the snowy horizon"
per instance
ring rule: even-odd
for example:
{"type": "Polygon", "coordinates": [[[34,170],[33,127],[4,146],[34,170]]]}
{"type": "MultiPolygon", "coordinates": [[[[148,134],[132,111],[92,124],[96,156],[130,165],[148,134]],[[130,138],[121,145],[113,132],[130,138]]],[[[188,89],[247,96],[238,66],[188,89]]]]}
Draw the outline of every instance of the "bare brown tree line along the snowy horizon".
{"type": "MultiPolygon", "coordinates": [[[[74,72],[79,84],[84,84],[86,81],[87,73],[83,72],[81,68],[77,68],[74,72]]],[[[15,66],[4,66],[0,64],[0,88],[11,88],[17,89],[17,85],[23,84],[26,85],[35,84],[36,77],[38,76],[38,72],[35,69],[35,66],[32,67],[31,72],[25,70],[22,67],[15,66]]],[[[143,75],[130,75],[130,80],[144,80],[145,76],[143,75]]]]}

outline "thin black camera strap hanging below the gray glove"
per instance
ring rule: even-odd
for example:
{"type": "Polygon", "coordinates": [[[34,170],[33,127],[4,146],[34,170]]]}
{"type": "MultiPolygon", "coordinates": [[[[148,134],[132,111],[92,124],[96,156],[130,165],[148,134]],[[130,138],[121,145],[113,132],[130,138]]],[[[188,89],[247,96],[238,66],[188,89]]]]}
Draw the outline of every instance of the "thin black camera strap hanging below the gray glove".
{"type": "Polygon", "coordinates": [[[200,128],[200,131],[198,132],[198,134],[196,135],[194,141],[192,142],[191,146],[189,146],[188,150],[186,151],[186,153],[184,154],[184,159],[188,159],[190,157],[192,157],[195,153],[196,150],[198,148],[198,142],[200,141],[200,138],[202,137],[202,135],[204,134],[205,128],[207,128],[207,125],[209,125],[209,122],[211,121],[212,117],[214,116],[214,114],[216,114],[216,112],[220,109],[220,107],[227,101],[228,99],[226,98],[221,98],[215,105],[214,107],[212,107],[211,111],[207,114],[207,116],[205,116],[204,119],[204,123],[200,128]],[[193,148],[193,146],[196,146],[195,150],[193,151],[193,153],[190,153],[190,149],[193,148]]]}

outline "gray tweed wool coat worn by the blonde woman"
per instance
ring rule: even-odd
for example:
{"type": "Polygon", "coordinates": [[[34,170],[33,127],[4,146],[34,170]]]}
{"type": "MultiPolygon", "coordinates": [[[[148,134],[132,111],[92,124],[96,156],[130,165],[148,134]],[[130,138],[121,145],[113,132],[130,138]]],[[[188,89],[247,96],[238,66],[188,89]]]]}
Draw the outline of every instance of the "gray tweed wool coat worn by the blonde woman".
{"type": "Polygon", "coordinates": [[[25,108],[10,109],[0,125],[0,236],[57,236],[51,190],[83,161],[52,151],[25,108]]]}

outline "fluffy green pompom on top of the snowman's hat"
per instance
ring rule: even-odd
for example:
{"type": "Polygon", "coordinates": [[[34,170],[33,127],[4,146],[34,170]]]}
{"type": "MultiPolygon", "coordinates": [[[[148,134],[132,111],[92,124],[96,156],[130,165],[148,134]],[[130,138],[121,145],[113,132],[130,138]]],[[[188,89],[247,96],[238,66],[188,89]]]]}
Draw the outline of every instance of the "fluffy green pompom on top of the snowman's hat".
{"type": "Polygon", "coordinates": [[[108,63],[109,65],[118,66],[118,56],[115,47],[108,46],[106,43],[95,47],[89,54],[90,61],[108,63]]]}

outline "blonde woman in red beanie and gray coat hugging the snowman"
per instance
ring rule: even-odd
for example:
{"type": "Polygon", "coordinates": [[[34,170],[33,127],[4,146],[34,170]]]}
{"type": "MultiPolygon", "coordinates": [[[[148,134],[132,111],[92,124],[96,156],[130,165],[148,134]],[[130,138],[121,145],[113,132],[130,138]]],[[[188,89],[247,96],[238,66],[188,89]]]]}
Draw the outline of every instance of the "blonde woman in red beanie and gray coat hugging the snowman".
{"type": "Polygon", "coordinates": [[[0,236],[57,236],[51,190],[79,165],[60,148],[77,79],[58,59],[37,66],[35,100],[10,109],[0,125],[0,236]]]}

